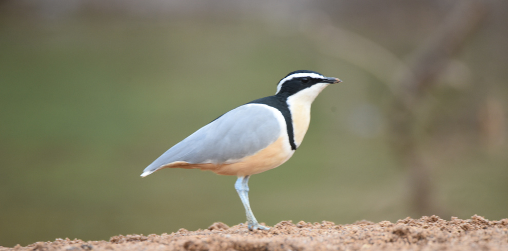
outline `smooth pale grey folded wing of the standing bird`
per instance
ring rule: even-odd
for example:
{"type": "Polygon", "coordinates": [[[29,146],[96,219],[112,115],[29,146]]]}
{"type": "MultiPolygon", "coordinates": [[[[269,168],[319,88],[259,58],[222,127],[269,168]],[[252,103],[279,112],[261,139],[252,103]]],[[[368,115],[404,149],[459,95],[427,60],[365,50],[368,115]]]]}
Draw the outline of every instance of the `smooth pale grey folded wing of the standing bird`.
{"type": "Polygon", "coordinates": [[[279,138],[282,125],[276,112],[265,104],[244,104],[233,109],[175,144],[141,176],[175,161],[221,164],[251,156],[279,138]]]}

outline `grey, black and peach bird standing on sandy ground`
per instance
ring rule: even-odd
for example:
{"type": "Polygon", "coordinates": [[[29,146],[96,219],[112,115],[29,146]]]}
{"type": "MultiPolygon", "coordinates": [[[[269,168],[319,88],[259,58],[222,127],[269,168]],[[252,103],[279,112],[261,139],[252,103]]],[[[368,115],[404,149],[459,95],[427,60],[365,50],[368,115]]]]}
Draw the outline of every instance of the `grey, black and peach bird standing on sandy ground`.
{"type": "Polygon", "coordinates": [[[164,168],[237,176],[235,189],[245,207],[248,229],[270,229],[252,213],[249,178],[276,168],[295,153],[309,127],[312,102],[325,87],[339,82],[315,71],[291,72],[278,82],[275,95],[214,119],[155,159],[141,177],[164,168]]]}

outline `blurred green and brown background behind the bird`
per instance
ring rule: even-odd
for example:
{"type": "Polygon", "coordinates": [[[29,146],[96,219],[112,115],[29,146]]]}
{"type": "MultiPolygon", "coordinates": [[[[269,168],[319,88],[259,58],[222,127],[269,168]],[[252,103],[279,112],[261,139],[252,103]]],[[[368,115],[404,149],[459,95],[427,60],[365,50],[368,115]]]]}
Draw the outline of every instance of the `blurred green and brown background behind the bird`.
{"type": "Polygon", "coordinates": [[[344,82],[250,179],[261,222],[506,218],[507,24],[497,0],[0,1],[0,245],[245,222],[236,177],[139,175],[300,69],[344,82]]]}

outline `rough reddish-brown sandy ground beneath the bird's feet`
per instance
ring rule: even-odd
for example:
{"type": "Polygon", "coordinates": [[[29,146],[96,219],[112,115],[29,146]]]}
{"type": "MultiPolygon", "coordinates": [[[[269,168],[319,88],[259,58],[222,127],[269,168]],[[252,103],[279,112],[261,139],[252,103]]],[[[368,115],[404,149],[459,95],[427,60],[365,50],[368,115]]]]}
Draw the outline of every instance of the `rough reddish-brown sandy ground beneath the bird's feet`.
{"type": "Polygon", "coordinates": [[[336,225],[282,221],[269,231],[217,222],[208,229],[162,235],[114,236],[109,241],[56,239],[6,250],[508,250],[508,219],[489,221],[437,216],[395,223],[359,221],[336,225]]]}

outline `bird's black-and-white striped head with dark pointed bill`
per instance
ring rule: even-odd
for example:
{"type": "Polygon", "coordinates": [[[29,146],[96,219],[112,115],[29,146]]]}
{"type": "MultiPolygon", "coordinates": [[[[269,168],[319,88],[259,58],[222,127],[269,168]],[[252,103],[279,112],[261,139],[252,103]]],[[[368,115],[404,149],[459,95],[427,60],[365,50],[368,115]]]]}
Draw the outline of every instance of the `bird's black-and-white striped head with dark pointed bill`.
{"type": "Polygon", "coordinates": [[[342,81],[338,78],[325,77],[315,71],[294,71],[279,81],[276,95],[288,97],[304,91],[315,98],[326,86],[340,82],[342,81]]]}

